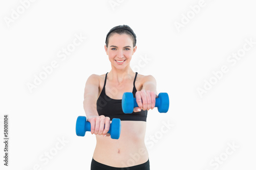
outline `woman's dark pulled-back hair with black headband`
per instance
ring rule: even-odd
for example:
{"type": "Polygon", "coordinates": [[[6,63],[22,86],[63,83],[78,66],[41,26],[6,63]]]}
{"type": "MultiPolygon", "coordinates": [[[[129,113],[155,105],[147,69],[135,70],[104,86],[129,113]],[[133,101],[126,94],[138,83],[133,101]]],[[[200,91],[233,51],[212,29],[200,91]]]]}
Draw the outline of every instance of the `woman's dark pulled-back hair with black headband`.
{"type": "Polygon", "coordinates": [[[109,33],[106,35],[106,46],[108,47],[109,45],[109,38],[111,36],[113,36],[113,34],[119,34],[119,35],[122,35],[122,34],[127,34],[127,35],[130,35],[132,40],[133,40],[133,47],[136,46],[136,35],[135,33],[133,32],[133,30],[129,27],[129,26],[126,26],[126,25],[122,25],[122,26],[116,26],[114,28],[112,28],[109,33]]]}

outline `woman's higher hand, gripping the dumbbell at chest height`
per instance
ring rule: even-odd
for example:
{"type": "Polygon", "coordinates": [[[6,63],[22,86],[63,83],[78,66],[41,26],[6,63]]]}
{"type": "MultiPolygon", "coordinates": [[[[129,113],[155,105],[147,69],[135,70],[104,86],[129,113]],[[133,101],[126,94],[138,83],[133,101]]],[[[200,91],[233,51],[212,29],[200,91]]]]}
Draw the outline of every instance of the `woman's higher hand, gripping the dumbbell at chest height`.
{"type": "Polygon", "coordinates": [[[136,102],[138,107],[133,109],[134,112],[139,112],[141,110],[150,110],[154,109],[156,105],[157,95],[154,91],[150,90],[141,90],[137,91],[135,94],[136,102]]]}

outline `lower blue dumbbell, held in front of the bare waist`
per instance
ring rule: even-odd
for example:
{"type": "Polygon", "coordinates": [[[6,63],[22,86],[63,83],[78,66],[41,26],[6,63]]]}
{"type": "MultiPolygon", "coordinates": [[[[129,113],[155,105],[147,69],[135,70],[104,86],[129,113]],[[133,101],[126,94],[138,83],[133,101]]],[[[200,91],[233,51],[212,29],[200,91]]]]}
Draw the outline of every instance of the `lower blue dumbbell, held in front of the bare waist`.
{"type": "MultiPolygon", "coordinates": [[[[86,132],[91,132],[91,123],[86,121],[86,116],[78,116],[76,119],[76,135],[84,136],[86,132]]],[[[112,139],[119,139],[121,133],[121,120],[113,118],[109,132],[112,139]]]]}

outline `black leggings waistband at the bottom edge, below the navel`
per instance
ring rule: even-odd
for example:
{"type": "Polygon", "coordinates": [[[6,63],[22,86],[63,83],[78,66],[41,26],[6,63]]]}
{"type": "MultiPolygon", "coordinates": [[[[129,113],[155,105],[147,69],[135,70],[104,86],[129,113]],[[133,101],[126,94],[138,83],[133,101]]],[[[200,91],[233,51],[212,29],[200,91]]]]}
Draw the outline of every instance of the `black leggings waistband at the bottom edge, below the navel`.
{"type": "Polygon", "coordinates": [[[130,167],[112,167],[92,160],[91,170],[150,170],[150,160],[145,163],[130,167]]]}

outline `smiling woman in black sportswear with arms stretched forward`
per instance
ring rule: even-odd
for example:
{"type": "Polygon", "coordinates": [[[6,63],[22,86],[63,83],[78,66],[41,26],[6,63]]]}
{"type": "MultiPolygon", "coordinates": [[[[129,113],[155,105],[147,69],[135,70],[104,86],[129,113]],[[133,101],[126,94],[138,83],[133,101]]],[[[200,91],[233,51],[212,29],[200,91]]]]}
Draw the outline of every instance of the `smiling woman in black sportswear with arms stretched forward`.
{"type": "Polygon", "coordinates": [[[91,123],[97,144],[91,169],[150,169],[144,138],[147,110],[155,107],[156,80],[143,76],[130,66],[136,52],[136,35],[129,26],[117,26],[106,36],[105,52],[112,69],[104,75],[91,75],[84,89],[84,111],[91,123]],[[124,114],[121,99],[124,92],[133,92],[138,107],[124,114]],[[107,132],[112,118],[121,119],[120,138],[107,132]]]}

